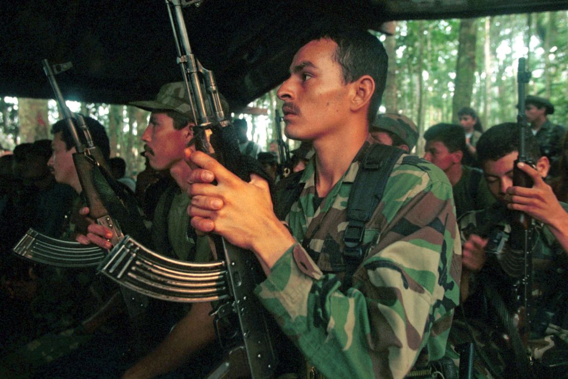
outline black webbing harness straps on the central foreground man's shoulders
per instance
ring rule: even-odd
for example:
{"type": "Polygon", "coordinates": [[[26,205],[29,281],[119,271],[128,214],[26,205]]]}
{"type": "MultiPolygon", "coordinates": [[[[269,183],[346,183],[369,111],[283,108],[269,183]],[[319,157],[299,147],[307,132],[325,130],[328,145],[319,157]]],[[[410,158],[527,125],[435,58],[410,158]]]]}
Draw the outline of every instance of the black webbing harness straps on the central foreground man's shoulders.
{"type": "MultiPolygon", "coordinates": [[[[347,228],[343,235],[345,277],[342,289],[351,286],[352,277],[364,258],[365,224],[371,219],[381,202],[383,192],[396,161],[404,153],[402,149],[382,144],[372,144],[363,153],[347,203],[347,228]]],[[[291,174],[278,183],[275,191],[275,214],[283,220],[302,193],[302,172],[291,174]]]]}

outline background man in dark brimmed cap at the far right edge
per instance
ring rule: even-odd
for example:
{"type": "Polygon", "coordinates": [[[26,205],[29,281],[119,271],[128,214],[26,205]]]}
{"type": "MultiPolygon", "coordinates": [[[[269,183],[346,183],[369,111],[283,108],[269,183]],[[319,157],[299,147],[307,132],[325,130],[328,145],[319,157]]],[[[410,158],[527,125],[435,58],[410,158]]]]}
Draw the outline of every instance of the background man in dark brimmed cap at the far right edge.
{"type": "Polygon", "coordinates": [[[527,122],[531,124],[533,136],[535,136],[542,155],[550,161],[549,176],[558,175],[558,163],[562,156],[560,141],[566,129],[561,125],[555,125],[547,115],[554,113],[554,105],[544,97],[528,95],[525,99],[525,115],[527,122]]]}

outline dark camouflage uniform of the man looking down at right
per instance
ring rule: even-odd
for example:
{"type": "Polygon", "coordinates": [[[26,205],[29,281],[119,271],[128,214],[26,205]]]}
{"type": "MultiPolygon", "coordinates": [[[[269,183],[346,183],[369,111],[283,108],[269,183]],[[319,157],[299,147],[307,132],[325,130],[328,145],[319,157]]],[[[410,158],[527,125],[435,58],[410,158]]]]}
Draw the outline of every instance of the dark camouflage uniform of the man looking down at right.
{"type": "MultiPolygon", "coordinates": [[[[561,205],[568,210],[568,204],[561,203],[561,205]]],[[[485,248],[486,263],[479,273],[472,274],[470,295],[462,305],[463,313],[461,311],[457,313],[463,317],[454,320],[450,334],[450,340],[454,344],[462,343],[464,339],[471,340],[473,336],[478,349],[475,362],[477,377],[507,376],[509,365],[512,365],[516,359],[511,348],[504,345],[504,340],[500,338],[504,330],[503,325],[496,321],[499,317],[496,316],[495,309],[487,307],[487,301],[482,297],[484,291],[482,286],[489,285],[503,299],[510,313],[514,313],[520,306],[514,286],[522,276],[524,252],[516,247],[513,248],[514,242],[511,241],[514,240],[514,236],[511,234],[511,225],[503,213],[501,216],[498,215],[499,207],[500,205],[495,203],[486,210],[467,213],[459,223],[462,244],[467,241],[470,234],[479,234],[479,226],[491,225],[491,232],[488,235],[490,241],[485,248]],[[508,238],[500,252],[495,248],[498,244],[492,242],[497,232],[503,232],[508,238]],[[492,338],[492,335],[498,338],[492,338]],[[489,368],[487,365],[492,367],[489,368]]],[[[531,244],[533,291],[530,315],[532,325],[528,347],[533,358],[544,366],[550,365],[550,359],[566,365],[568,364],[566,253],[548,228],[538,222],[532,234],[531,244]]],[[[541,370],[537,372],[537,376],[553,376],[544,366],[536,365],[541,370]]]]}

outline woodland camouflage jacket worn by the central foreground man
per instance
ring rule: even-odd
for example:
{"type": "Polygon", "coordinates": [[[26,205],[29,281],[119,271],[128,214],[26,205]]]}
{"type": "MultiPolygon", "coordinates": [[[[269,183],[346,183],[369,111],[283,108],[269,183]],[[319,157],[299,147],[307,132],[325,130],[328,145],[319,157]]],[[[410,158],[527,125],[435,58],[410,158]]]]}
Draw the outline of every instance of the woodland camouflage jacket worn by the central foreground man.
{"type": "Polygon", "coordinates": [[[298,242],[255,293],[325,376],[403,377],[419,352],[430,360],[444,356],[458,304],[461,246],[452,186],[436,166],[402,155],[366,224],[363,264],[352,287],[341,291],[341,264],[329,251],[344,248],[361,151],[317,209],[314,159],[308,163],[286,217],[298,242]]]}

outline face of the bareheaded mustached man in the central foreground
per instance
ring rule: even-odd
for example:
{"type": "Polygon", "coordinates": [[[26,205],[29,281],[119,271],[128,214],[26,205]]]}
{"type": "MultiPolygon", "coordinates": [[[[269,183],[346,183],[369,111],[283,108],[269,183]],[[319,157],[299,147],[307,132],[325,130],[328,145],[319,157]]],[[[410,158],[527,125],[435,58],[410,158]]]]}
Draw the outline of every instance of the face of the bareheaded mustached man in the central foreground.
{"type": "Polygon", "coordinates": [[[349,85],[333,60],[336,49],[332,40],[313,40],[294,56],[290,78],[278,89],[289,138],[314,140],[346,124],[349,85]]]}

